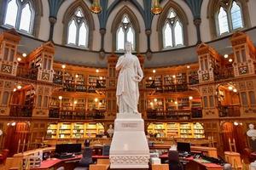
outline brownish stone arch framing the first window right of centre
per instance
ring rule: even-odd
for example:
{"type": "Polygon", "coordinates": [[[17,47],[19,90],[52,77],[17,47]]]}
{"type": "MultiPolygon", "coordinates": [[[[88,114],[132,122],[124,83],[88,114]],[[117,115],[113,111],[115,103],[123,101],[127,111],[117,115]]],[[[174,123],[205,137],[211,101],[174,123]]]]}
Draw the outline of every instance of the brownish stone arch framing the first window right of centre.
{"type": "Polygon", "coordinates": [[[183,11],[183,8],[181,8],[180,5],[173,1],[169,1],[166,3],[163,12],[160,14],[159,19],[157,20],[157,27],[156,31],[158,31],[159,34],[159,47],[162,49],[164,47],[163,45],[163,31],[162,28],[165,25],[165,20],[167,15],[169,14],[170,8],[173,8],[175,12],[177,13],[178,18],[183,23],[183,42],[184,46],[187,46],[189,44],[188,42],[188,25],[189,25],[189,19],[187,17],[187,14],[183,11]]]}

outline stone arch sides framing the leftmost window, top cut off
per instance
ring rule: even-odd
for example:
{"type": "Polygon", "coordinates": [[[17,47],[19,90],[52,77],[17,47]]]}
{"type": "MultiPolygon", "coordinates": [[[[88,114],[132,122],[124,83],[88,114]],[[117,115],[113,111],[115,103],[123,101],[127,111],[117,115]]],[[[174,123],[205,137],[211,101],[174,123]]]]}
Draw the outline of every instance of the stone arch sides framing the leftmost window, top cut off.
{"type": "MultiPolygon", "coordinates": [[[[32,25],[32,35],[34,37],[38,37],[40,31],[40,21],[43,16],[43,4],[41,0],[27,0],[31,3],[33,11],[34,11],[34,20],[32,25]]],[[[6,6],[9,1],[0,0],[0,24],[3,25],[4,17],[6,14],[6,6]]]]}

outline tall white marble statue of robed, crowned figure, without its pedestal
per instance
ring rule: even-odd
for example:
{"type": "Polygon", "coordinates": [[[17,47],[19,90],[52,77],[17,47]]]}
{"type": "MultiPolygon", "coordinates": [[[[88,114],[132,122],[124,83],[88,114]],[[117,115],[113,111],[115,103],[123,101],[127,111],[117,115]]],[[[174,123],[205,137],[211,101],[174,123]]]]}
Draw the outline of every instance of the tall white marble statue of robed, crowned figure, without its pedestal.
{"type": "Polygon", "coordinates": [[[119,71],[116,90],[119,113],[138,112],[138,82],[143,79],[143,70],[137,56],[131,54],[131,47],[131,42],[125,43],[125,54],[119,57],[115,66],[116,71],[119,71]]]}

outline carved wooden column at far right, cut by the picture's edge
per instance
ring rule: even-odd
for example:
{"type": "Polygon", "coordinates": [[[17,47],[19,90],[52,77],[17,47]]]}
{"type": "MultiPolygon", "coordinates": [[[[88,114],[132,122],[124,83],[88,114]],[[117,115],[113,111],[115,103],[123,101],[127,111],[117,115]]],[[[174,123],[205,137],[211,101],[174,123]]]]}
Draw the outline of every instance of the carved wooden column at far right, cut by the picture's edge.
{"type": "Polygon", "coordinates": [[[256,111],[256,48],[246,33],[236,32],[231,37],[234,52],[234,75],[240,77],[236,81],[240,96],[241,116],[254,116],[256,111]]]}

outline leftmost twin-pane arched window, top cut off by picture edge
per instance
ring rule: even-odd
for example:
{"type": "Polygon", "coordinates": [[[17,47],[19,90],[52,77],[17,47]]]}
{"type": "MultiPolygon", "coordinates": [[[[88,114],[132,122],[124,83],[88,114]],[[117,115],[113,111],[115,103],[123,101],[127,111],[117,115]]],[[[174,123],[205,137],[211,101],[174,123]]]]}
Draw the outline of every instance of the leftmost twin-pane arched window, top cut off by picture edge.
{"type": "Polygon", "coordinates": [[[30,0],[9,0],[3,24],[32,34],[35,10],[30,0]]]}

